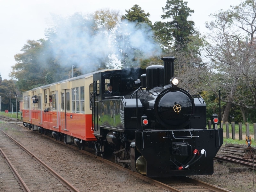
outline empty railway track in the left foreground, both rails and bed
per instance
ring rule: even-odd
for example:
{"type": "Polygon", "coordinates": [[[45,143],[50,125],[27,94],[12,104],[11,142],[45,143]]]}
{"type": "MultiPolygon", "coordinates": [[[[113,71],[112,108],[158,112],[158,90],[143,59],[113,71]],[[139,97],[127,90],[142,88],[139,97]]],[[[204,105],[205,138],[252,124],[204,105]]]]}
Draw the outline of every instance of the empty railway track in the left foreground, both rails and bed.
{"type": "Polygon", "coordinates": [[[0,131],[0,151],[23,191],[79,192],[68,181],[2,130],[0,131]],[[46,183],[46,185],[42,185],[42,183],[46,183]]]}

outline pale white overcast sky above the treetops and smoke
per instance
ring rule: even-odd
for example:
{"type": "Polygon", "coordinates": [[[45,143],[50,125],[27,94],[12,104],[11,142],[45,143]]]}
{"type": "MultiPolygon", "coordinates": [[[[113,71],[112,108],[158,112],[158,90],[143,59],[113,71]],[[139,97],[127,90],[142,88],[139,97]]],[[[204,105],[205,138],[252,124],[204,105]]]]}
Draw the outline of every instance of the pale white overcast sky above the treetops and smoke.
{"type": "MultiPolygon", "coordinates": [[[[188,7],[194,10],[190,20],[204,34],[204,23],[211,21],[210,13],[227,10],[230,5],[238,5],[241,0],[185,0],[188,7]]],[[[118,10],[126,14],[133,5],[138,4],[145,13],[150,13],[149,20],[162,21],[162,7],[166,0],[0,0],[0,74],[2,79],[10,79],[8,74],[15,65],[14,55],[27,40],[45,38],[44,30],[50,27],[51,13],[63,17],[76,12],[93,13],[100,9],[118,10]]]]}

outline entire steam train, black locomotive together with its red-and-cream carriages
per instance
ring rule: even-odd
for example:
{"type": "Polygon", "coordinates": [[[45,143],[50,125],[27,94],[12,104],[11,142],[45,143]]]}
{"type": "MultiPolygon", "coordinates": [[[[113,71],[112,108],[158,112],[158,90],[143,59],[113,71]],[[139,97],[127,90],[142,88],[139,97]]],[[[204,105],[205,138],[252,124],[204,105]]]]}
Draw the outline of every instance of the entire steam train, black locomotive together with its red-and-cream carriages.
{"type": "Polygon", "coordinates": [[[24,126],[113,155],[148,177],[212,174],[223,143],[217,115],[207,129],[203,98],[178,86],[174,57],[162,60],[164,66],[106,69],[24,92],[24,126]]]}

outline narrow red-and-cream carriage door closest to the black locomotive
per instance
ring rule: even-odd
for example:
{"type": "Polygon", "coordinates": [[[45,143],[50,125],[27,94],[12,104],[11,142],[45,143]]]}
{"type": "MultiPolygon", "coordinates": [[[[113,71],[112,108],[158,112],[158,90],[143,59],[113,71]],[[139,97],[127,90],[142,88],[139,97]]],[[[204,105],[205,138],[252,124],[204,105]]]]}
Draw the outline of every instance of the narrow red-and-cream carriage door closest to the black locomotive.
{"type": "Polygon", "coordinates": [[[70,93],[68,89],[61,92],[61,113],[60,113],[60,127],[62,130],[67,128],[67,113],[70,111],[70,93]]]}

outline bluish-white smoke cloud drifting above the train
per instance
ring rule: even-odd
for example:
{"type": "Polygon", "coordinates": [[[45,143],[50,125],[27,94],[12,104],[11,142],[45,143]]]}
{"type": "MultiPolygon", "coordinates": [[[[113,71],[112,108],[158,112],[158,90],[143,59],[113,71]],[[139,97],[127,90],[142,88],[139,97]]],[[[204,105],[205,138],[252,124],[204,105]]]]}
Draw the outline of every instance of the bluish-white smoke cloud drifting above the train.
{"type": "MultiPolygon", "coordinates": [[[[120,50],[124,50],[130,59],[135,57],[134,49],[139,50],[142,59],[161,54],[161,49],[154,40],[153,31],[144,23],[124,20],[112,31],[109,38],[106,30],[96,28],[92,17],[84,17],[80,13],[69,18],[55,17],[54,23],[55,34],[49,36],[53,57],[57,58],[61,65],[79,67],[83,73],[97,70],[106,58],[114,62],[112,65],[115,68],[120,67],[122,58],[115,59],[119,57],[117,53],[120,53],[120,50]],[[116,37],[123,35],[127,37],[122,42],[124,48],[120,47],[120,44],[116,46],[116,37]]],[[[106,65],[109,66],[107,63],[106,65]]]]}

